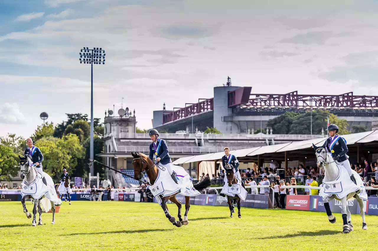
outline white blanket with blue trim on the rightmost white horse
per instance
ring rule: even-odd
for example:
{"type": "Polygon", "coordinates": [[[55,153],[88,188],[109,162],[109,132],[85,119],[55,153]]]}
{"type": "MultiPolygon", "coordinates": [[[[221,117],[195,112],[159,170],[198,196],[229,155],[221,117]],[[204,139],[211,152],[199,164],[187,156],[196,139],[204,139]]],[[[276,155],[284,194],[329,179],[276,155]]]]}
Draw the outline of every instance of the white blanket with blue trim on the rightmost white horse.
{"type": "MultiPolygon", "coordinates": [[[[336,164],[339,169],[339,176],[335,181],[322,181],[323,188],[319,190],[319,195],[324,199],[325,197],[330,197],[333,194],[336,195],[338,199],[341,199],[347,196],[350,193],[357,191],[358,189],[361,190],[359,193],[359,197],[363,200],[367,200],[367,193],[364,188],[364,183],[361,180],[361,177],[356,173],[356,171],[352,170],[352,174],[355,176],[356,182],[358,185],[354,184],[354,182],[350,179],[348,171],[345,170],[344,167],[340,167],[336,164]]],[[[354,199],[348,198],[348,199],[354,199]]]]}

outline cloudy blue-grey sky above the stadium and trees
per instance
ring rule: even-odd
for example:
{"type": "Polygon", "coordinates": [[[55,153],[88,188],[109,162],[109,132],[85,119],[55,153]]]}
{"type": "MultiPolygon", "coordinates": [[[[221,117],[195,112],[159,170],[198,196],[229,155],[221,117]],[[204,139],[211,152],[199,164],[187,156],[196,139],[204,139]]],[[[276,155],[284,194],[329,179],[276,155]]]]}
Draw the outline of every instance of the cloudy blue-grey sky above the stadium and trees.
{"type": "Polygon", "coordinates": [[[90,66],[82,47],[102,47],[94,66],[95,117],[152,111],[212,98],[226,83],[253,93],[377,95],[378,1],[2,0],[0,136],[31,135],[65,113],[90,114],[90,66]]]}

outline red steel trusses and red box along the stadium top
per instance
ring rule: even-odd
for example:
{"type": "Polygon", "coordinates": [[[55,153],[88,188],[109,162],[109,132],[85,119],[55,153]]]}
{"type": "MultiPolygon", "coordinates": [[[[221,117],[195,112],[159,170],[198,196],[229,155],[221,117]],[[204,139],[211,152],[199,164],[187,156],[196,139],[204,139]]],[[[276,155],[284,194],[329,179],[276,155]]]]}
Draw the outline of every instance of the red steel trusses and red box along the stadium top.
{"type": "MultiPolygon", "coordinates": [[[[341,95],[299,95],[297,91],[286,94],[251,94],[252,87],[241,87],[228,92],[228,107],[238,109],[348,109],[372,111],[378,109],[378,96],[357,96],[353,92],[341,95]]],[[[186,103],[163,115],[163,124],[213,110],[214,98],[198,99],[186,103]],[[189,105],[189,106],[187,106],[189,105]]]]}

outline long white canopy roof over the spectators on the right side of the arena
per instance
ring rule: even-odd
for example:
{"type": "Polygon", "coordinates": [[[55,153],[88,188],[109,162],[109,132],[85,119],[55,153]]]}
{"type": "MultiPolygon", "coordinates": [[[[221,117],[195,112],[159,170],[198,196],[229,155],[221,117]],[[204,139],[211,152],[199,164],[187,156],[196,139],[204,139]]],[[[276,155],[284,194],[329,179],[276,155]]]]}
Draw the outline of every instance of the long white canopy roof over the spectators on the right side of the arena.
{"type": "MultiPolygon", "coordinates": [[[[378,130],[375,131],[369,131],[369,132],[361,132],[361,133],[352,133],[347,135],[342,135],[342,137],[347,142],[347,145],[354,145],[356,143],[365,144],[364,150],[370,150],[378,152],[378,149],[376,149],[376,144],[367,144],[367,143],[373,143],[375,141],[378,141],[378,130]]],[[[277,145],[266,145],[262,147],[253,147],[253,148],[246,148],[246,149],[240,149],[230,152],[232,155],[235,155],[237,158],[245,158],[246,160],[250,160],[251,157],[257,157],[260,155],[265,155],[265,157],[272,158],[272,159],[282,159],[285,158],[283,156],[286,156],[287,152],[292,152],[291,156],[304,156],[310,154],[310,152],[313,153],[313,150],[311,150],[312,144],[316,146],[321,146],[324,141],[327,139],[325,138],[319,138],[319,139],[309,139],[304,141],[296,141],[296,142],[290,142],[290,143],[284,143],[284,144],[277,144],[277,145]],[[305,152],[301,152],[301,150],[305,150],[305,152]],[[274,156],[276,155],[276,156],[274,156]]],[[[376,142],[375,142],[376,143],[376,142]]],[[[358,148],[358,147],[357,147],[358,148]]],[[[357,149],[357,152],[359,150],[357,149]]],[[[355,153],[355,149],[352,151],[349,151],[352,154],[355,153]]],[[[218,152],[218,153],[208,153],[204,155],[195,155],[195,156],[188,156],[184,158],[179,158],[173,162],[173,164],[184,164],[184,163],[191,163],[191,162],[199,162],[199,161],[217,161],[222,158],[224,155],[224,152],[218,152]]],[[[293,159],[293,158],[291,158],[293,159]]]]}

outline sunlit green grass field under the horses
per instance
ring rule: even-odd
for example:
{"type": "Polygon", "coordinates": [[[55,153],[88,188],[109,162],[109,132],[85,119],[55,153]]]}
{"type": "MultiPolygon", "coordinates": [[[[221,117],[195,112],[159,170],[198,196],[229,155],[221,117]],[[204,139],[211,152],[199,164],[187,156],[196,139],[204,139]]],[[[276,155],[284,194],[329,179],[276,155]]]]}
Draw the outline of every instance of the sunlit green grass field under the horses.
{"type": "MultiPolygon", "coordinates": [[[[32,204],[26,206],[31,212],[32,204]]],[[[176,205],[169,210],[177,218],[176,205]]],[[[237,212],[230,218],[228,207],[192,205],[189,225],[177,228],[156,203],[73,201],[64,202],[55,225],[51,213],[44,213],[43,225],[32,227],[20,202],[1,202],[0,250],[345,251],[371,249],[378,240],[378,216],[366,216],[363,231],[361,217],[352,215],[355,231],[342,234],[341,214],[331,224],[318,212],[242,208],[241,213],[242,219],[237,212]]]]}

